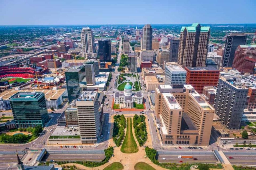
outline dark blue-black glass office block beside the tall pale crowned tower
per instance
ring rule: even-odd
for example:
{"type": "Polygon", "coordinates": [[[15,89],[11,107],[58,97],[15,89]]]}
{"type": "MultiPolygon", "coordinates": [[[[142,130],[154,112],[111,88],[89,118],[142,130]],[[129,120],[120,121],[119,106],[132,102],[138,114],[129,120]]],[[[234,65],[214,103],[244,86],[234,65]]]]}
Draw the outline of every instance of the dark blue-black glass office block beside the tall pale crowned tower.
{"type": "Polygon", "coordinates": [[[100,61],[111,61],[111,40],[99,40],[100,61]]]}

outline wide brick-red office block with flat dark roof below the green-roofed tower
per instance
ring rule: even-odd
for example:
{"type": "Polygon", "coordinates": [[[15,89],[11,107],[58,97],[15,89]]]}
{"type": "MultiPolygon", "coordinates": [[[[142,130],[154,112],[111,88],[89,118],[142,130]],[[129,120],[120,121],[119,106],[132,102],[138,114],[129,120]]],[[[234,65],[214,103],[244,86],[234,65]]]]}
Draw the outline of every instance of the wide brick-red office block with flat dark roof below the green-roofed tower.
{"type": "Polygon", "coordinates": [[[204,86],[217,86],[219,70],[214,67],[186,67],[186,84],[191,84],[202,94],[204,86]]]}

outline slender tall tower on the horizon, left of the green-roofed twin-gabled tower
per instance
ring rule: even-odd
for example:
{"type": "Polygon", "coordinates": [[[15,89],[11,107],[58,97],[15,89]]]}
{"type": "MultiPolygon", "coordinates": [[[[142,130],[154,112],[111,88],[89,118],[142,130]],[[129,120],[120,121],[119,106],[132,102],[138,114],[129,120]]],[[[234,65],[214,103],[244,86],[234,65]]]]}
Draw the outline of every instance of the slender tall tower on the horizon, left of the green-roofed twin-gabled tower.
{"type": "Polygon", "coordinates": [[[152,50],[152,27],[150,24],[146,24],[143,27],[142,45],[144,50],[152,50]]]}

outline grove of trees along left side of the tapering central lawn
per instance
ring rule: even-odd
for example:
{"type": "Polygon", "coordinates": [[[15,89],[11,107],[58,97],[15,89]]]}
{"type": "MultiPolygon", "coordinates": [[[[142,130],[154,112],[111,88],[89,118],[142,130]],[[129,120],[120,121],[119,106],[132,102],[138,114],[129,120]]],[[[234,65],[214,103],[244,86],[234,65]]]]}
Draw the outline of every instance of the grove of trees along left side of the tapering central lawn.
{"type": "Polygon", "coordinates": [[[113,140],[117,147],[119,147],[124,139],[124,128],[126,128],[126,119],[124,115],[114,116],[113,140]]]}

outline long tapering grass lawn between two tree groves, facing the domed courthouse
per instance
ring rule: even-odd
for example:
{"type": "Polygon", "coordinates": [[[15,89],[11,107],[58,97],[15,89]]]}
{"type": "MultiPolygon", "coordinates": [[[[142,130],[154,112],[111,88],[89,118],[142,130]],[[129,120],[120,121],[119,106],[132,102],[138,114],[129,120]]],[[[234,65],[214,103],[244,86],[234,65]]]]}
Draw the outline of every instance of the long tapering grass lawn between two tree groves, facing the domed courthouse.
{"type": "Polygon", "coordinates": [[[124,138],[123,145],[121,146],[121,152],[125,154],[132,154],[139,151],[139,148],[132,135],[132,118],[127,118],[127,130],[124,138]]]}

